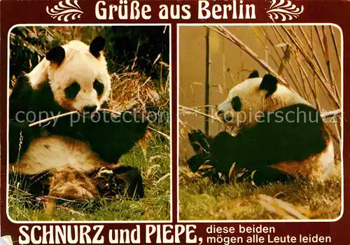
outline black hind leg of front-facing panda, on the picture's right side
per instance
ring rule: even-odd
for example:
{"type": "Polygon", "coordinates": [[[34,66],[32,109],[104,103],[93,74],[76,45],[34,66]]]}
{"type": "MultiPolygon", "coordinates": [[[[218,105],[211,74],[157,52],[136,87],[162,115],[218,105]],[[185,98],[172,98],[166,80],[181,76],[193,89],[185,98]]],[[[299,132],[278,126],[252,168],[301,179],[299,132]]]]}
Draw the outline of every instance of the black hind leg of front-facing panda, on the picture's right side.
{"type": "Polygon", "coordinates": [[[144,197],[144,184],[139,169],[130,166],[102,167],[92,176],[102,197],[144,197]]]}

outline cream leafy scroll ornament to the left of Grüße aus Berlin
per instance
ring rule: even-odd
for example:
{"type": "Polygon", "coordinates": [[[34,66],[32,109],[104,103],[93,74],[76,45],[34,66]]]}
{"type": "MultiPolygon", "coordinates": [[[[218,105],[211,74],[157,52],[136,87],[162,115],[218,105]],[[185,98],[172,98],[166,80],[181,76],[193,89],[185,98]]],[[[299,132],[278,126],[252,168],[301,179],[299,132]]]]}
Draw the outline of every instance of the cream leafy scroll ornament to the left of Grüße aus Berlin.
{"type": "Polygon", "coordinates": [[[83,11],[78,5],[78,0],[59,1],[59,3],[53,8],[46,6],[46,12],[51,15],[52,19],[57,18],[58,21],[62,21],[63,19],[64,22],[68,22],[69,20],[76,20],[76,18],[79,19],[83,14],[83,11]]]}

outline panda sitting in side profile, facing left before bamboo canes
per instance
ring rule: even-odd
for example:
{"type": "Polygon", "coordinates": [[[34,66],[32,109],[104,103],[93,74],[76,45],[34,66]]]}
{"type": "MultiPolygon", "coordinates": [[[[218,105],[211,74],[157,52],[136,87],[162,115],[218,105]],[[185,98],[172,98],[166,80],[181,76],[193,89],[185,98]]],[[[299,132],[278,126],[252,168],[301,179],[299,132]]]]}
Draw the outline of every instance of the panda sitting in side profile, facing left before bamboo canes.
{"type": "Polygon", "coordinates": [[[228,176],[235,163],[235,172],[259,185],[295,178],[324,181],[335,171],[332,140],[320,113],[272,75],[260,78],[253,71],[230,90],[216,116],[237,135],[190,132],[196,155],[188,165],[194,172],[211,165],[216,174],[228,176]]]}

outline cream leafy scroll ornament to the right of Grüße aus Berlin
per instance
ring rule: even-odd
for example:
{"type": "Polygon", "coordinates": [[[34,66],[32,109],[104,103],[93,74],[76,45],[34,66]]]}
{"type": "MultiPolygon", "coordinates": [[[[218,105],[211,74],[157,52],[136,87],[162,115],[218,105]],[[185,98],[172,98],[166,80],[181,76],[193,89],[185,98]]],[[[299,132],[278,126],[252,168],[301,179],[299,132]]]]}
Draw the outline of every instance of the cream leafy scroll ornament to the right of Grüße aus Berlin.
{"type": "Polygon", "coordinates": [[[299,15],[304,12],[304,6],[298,8],[291,1],[285,0],[271,0],[271,6],[267,10],[267,15],[274,22],[274,20],[279,20],[285,22],[286,20],[293,20],[293,18],[298,18],[299,15]]]}

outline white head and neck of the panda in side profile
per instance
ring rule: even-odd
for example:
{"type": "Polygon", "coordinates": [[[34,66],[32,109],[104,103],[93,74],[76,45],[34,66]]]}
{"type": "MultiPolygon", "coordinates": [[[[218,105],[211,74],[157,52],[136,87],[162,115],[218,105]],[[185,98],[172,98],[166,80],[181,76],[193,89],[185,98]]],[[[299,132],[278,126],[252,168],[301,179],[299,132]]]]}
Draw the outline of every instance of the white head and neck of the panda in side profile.
{"type": "Polygon", "coordinates": [[[247,80],[230,90],[228,98],[218,105],[216,116],[231,127],[252,127],[262,113],[293,104],[311,106],[299,94],[278,83],[274,76],[267,74],[260,78],[258,71],[253,71],[247,80]]]}

